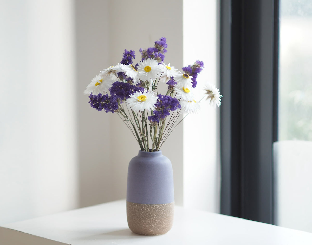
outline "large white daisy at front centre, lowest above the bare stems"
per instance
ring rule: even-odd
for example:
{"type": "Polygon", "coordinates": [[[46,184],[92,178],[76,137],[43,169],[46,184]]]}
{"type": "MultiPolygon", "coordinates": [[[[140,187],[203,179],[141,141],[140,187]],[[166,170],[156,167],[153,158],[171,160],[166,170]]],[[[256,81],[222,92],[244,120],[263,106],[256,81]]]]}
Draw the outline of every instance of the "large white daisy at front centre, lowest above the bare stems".
{"type": "Polygon", "coordinates": [[[154,94],[154,92],[134,92],[130,95],[130,98],[126,99],[127,106],[134,112],[144,111],[144,109],[154,109],[156,103],[159,99],[154,94]]]}

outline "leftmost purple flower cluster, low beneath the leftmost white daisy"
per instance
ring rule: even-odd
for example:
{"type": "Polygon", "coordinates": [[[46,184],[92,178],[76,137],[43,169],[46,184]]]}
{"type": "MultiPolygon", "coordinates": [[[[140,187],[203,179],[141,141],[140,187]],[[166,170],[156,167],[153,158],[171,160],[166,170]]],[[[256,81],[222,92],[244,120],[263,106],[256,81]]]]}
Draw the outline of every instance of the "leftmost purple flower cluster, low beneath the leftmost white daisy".
{"type": "Polygon", "coordinates": [[[112,95],[109,97],[108,94],[97,94],[93,95],[92,93],[89,96],[92,108],[97,109],[98,111],[105,110],[106,113],[111,112],[115,113],[118,110],[118,97],[112,95]]]}

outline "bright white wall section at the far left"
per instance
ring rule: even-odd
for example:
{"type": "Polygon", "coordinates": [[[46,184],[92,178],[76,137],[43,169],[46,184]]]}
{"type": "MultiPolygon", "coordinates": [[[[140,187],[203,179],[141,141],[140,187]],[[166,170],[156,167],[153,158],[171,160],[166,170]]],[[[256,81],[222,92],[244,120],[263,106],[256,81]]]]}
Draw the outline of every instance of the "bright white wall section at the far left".
{"type": "Polygon", "coordinates": [[[0,3],[0,224],[77,206],[70,0],[0,3]]]}

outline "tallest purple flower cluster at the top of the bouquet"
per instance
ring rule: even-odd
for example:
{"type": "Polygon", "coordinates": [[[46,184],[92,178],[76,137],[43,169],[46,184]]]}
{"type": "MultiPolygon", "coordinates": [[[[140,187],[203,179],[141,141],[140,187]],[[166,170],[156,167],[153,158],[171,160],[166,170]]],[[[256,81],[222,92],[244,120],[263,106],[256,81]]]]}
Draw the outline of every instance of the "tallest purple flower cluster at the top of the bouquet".
{"type": "Polygon", "coordinates": [[[142,60],[147,58],[152,58],[158,61],[158,63],[162,62],[165,58],[164,53],[167,52],[166,48],[168,45],[166,43],[166,38],[162,37],[158,41],[155,41],[155,46],[147,49],[140,49],[139,51],[142,54],[142,60]]]}

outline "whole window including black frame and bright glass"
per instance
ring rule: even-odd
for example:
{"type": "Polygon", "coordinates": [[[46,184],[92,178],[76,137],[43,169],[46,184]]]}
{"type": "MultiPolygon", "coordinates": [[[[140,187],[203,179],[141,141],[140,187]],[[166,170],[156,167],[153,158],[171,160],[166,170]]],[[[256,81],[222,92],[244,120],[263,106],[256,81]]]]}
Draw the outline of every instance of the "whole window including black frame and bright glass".
{"type": "Polygon", "coordinates": [[[311,24],[310,1],[221,1],[222,214],[312,232],[311,24]]]}

